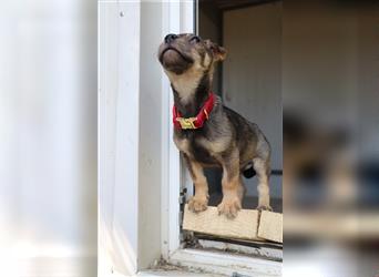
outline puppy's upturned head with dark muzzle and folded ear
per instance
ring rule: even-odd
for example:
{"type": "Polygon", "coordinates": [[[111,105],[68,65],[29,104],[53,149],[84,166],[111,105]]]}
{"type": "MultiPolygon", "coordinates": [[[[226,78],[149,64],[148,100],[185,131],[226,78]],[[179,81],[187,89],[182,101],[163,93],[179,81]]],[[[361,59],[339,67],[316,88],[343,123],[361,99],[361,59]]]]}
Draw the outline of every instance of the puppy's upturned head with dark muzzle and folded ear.
{"type": "Polygon", "coordinates": [[[223,61],[226,50],[192,33],[167,34],[158,49],[158,60],[166,72],[176,75],[191,70],[206,72],[223,61]]]}

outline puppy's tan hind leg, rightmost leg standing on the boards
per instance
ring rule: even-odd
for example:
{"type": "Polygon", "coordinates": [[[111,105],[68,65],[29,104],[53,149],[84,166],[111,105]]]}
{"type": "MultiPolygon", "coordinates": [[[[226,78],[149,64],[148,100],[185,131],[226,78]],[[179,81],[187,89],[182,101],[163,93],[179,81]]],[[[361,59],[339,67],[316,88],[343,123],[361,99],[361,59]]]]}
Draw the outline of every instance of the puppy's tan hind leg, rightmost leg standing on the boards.
{"type": "Polygon", "coordinates": [[[254,170],[257,173],[258,177],[258,207],[257,209],[263,211],[273,211],[269,205],[269,158],[264,160],[260,157],[256,157],[253,160],[254,170]]]}

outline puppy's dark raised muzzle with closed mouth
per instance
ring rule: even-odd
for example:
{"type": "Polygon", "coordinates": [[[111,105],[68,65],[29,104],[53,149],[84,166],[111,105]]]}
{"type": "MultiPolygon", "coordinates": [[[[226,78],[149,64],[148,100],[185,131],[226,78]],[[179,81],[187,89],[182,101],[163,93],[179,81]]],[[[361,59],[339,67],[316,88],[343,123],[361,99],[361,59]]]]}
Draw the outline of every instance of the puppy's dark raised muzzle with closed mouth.
{"type": "Polygon", "coordinates": [[[190,57],[173,47],[167,47],[162,51],[160,61],[166,70],[176,74],[182,74],[194,62],[190,57]]]}

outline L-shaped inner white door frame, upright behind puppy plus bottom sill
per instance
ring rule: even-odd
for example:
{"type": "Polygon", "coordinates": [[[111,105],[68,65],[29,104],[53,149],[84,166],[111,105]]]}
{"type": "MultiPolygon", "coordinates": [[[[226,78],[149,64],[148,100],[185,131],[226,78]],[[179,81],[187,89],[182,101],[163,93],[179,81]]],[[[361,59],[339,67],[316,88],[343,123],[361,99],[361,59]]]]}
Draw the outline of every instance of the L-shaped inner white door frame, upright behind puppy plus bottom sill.
{"type": "MultiPolygon", "coordinates": [[[[167,19],[163,28],[163,34],[196,32],[197,30],[197,1],[172,1],[164,17],[167,19]],[[196,4],[196,7],[195,7],[196,4]],[[195,24],[196,21],[196,24],[195,24]]],[[[181,189],[186,188],[186,195],[193,194],[193,183],[186,167],[181,160],[180,153],[172,140],[173,126],[171,107],[173,105],[173,94],[167,78],[162,79],[162,91],[166,92],[165,104],[163,104],[163,117],[168,121],[165,123],[166,132],[163,132],[164,161],[163,171],[166,172],[162,182],[162,256],[171,264],[205,269],[209,273],[233,275],[256,274],[257,276],[281,276],[281,263],[235,256],[231,254],[219,254],[207,250],[185,249],[181,246],[181,213],[180,194],[181,189]],[[166,185],[164,185],[166,184],[166,185]],[[168,193],[167,193],[168,192],[168,193]]]]}

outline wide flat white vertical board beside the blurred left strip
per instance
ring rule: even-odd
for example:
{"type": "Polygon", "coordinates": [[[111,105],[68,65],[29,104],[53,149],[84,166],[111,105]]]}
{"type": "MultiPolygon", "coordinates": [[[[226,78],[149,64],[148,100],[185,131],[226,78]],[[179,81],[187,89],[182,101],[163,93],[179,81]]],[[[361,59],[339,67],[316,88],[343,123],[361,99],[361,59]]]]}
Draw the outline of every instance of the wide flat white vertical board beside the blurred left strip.
{"type": "Polygon", "coordinates": [[[99,1],[100,273],[137,268],[140,10],[99,1]]]}

